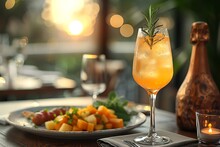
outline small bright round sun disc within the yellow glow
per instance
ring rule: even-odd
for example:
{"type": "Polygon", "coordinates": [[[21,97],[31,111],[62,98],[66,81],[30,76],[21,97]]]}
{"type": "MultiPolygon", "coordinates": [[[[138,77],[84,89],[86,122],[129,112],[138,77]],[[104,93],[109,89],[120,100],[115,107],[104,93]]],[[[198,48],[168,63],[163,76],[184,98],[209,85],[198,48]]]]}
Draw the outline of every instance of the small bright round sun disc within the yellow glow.
{"type": "Polygon", "coordinates": [[[71,35],[79,35],[83,31],[83,24],[78,21],[74,20],[69,24],[69,33],[71,35]]]}

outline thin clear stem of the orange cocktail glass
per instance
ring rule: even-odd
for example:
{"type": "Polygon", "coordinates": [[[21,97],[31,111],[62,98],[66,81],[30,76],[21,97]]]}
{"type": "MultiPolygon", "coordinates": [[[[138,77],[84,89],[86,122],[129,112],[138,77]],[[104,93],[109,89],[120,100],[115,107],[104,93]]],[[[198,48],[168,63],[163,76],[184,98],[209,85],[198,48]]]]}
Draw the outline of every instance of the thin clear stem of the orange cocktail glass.
{"type": "Polygon", "coordinates": [[[155,131],[155,101],[157,94],[150,94],[150,129],[148,136],[156,137],[157,133],[155,131]]]}

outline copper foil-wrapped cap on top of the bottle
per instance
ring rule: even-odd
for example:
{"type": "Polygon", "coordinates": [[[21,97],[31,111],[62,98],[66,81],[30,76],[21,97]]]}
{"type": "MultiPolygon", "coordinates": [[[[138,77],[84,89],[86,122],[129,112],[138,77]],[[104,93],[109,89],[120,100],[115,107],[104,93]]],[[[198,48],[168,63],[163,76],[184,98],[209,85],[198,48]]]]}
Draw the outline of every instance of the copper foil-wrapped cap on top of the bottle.
{"type": "Polygon", "coordinates": [[[206,22],[194,22],[190,35],[191,43],[209,40],[209,28],[206,22]]]}

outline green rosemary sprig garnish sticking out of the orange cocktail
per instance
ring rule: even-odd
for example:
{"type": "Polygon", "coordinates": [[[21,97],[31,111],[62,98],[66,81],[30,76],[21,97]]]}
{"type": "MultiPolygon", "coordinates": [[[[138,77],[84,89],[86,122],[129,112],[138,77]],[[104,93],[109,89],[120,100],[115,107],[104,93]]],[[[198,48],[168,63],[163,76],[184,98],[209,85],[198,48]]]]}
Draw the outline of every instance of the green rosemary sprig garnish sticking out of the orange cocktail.
{"type": "Polygon", "coordinates": [[[145,38],[145,41],[150,46],[151,49],[154,44],[156,44],[157,42],[161,41],[164,38],[164,37],[160,39],[154,38],[156,34],[159,32],[158,30],[155,31],[156,28],[163,26],[163,25],[157,25],[157,22],[159,21],[158,11],[159,8],[153,8],[150,5],[148,10],[144,14],[146,20],[146,26],[142,28],[142,31],[149,36],[149,39],[145,38]]]}

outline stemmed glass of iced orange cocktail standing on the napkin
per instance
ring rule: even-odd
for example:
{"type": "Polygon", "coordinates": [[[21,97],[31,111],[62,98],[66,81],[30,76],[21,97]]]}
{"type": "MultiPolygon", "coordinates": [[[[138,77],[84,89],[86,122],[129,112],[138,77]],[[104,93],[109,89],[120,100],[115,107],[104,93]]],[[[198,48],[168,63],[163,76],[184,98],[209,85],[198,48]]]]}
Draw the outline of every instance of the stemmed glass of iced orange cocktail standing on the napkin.
{"type": "Polygon", "coordinates": [[[146,136],[139,136],[134,141],[148,145],[166,144],[170,138],[159,136],[155,130],[155,101],[159,90],[173,76],[170,39],[166,28],[156,28],[153,38],[146,31],[144,28],[138,29],[132,75],[150,96],[150,128],[146,136]]]}

